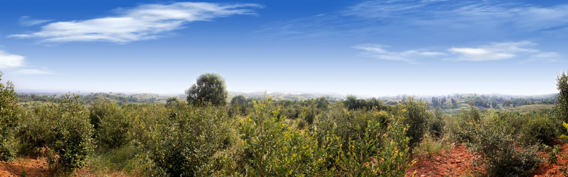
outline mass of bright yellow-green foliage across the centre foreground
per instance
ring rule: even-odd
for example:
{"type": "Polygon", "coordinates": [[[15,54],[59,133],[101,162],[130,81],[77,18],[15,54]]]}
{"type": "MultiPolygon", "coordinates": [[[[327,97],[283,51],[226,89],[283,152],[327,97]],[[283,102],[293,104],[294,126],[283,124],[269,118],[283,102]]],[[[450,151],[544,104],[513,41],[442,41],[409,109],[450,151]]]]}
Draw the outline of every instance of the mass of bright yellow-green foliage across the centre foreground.
{"type": "Polygon", "coordinates": [[[278,119],[270,98],[255,105],[241,120],[242,149],[227,154],[216,175],[403,176],[412,165],[402,116],[340,108],[300,130],[278,119]]]}

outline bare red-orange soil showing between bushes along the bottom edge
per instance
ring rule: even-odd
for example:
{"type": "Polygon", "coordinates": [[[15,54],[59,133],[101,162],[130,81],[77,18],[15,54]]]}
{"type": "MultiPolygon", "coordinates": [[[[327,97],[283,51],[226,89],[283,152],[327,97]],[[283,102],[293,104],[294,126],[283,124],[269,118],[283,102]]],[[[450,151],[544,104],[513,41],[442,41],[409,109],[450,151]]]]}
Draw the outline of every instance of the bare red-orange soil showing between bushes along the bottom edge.
{"type": "MultiPolygon", "coordinates": [[[[561,142],[560,152],[557,155],[557,163],[550,165],[548,151],[541,152],[542,163],[531,176],[568,176],[568,146],[561,142]]],[[[478,167],[472,166],[474,156],[467,151],[464,145],[454,145],[449,150],[442,150],[438,155],[418,157],[414,166],[407,170],[406,176],[411,176],[416,171],[417,177],[425,176],[473,176],[475,172],[481,171],[478,167]]],[[[0,176],[51,176],[45,158],[19,158],[11,162],[0,162],[0,176]],[[25,173],[23,172],[25,171],[25,173]]],[[[82,168],[78,169],[74,176],[97,176],[93,171],[82,168]]],[[[122,172],[111,172],[107,176],[128,176],[122,172]]]]}

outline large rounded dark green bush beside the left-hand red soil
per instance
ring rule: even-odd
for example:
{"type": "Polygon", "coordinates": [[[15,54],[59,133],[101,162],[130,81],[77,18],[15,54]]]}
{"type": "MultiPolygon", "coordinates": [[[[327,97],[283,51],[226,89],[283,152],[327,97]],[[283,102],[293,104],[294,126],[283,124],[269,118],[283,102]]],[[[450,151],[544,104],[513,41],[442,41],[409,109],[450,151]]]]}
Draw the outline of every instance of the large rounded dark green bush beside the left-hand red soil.
{"type": "Polygon", "coordinates": [[[29,148],[47,147],[48,163],[61,171],[82,167],[93,148],[93,125],[78,99],[78,95],[66,94],[59,104],[36,108],[18,134],[29,148]]]}

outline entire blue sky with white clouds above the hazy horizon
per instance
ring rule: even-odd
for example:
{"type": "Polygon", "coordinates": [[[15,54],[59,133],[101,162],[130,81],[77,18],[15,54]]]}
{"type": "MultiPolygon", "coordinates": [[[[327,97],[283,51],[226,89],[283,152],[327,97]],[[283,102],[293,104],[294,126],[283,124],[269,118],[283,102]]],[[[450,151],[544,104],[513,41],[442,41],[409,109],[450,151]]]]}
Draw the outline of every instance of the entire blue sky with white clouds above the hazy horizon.
{"type": "Polygon", "coordinates": [[[0,1],[27,91],[551,94],[566,41],[565,1],[0,1]]]}

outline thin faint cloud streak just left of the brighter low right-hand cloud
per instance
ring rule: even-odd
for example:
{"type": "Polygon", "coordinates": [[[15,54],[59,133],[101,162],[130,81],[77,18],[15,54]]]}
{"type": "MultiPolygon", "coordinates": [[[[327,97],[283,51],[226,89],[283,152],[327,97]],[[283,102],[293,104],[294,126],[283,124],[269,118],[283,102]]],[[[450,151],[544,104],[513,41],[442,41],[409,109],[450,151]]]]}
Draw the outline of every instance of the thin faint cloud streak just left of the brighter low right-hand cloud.
{"type": "Polygon", "coordinates": [[[377,44],[361,44],[353,48],[364,50],[361,54],[366,57],[376,58],[378,60],[404,61],[410,64],[416,64],[417,59],[432,58],[436,56],[445,56],[442,52],[420,52],[417,50],[405,50],[402,52],[390,52],[383,49],[385,46],[377,44]]]}

